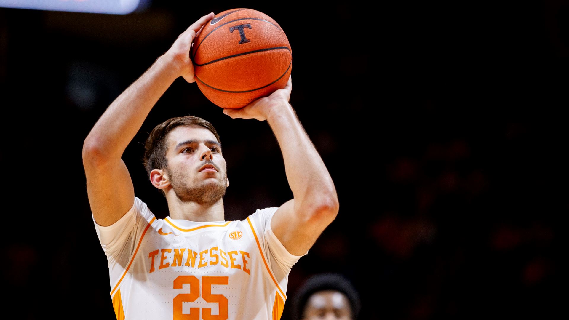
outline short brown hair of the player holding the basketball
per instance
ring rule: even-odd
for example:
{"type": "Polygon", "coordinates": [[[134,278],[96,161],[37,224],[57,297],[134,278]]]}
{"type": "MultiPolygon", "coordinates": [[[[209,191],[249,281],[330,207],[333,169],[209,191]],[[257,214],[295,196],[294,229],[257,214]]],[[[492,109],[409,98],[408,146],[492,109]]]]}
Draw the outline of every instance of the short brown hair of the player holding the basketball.
{"type": "MultiPolygon", "coordinates": [[[[202,126],[208,129],[216,137],[217,142],[221,143],[217,130],[213,128],[213,125],[208,121],[200,117],[195,116],[184,116],[184,117],[174,117],[170,118],[161,124],[157,125],[145,142],[145,153],[142,159],[142,163],[146,168],[146,173],[150,179],[150,172],[154,169],[167,169],[168,160],[166,159],[166,137],[177,126],[202,126]]],[[[162,195],[166,197],[166,192],[160,189],[162,195]]]]}

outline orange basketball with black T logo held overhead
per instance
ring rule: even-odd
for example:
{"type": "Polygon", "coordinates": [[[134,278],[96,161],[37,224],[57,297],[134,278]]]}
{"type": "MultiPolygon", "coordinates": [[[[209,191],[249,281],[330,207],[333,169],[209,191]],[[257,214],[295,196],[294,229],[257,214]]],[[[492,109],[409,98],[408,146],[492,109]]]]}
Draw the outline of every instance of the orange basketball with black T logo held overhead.
{"type": "Polygon", "coordinates": [[[222,108],[242,108],[283,89],[292,70],[281,26],[253,9],[218,13],[197,32],[189,55],[197,87],[222,108]]]}

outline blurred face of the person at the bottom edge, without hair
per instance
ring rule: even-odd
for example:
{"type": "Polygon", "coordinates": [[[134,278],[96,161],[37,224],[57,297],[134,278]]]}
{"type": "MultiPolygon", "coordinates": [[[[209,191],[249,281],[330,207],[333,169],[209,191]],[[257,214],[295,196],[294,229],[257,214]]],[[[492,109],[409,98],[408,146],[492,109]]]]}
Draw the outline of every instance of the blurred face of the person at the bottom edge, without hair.
{"type": "Polygon", "coordinates": [[[303,320],[351,320],[352,310],[345,294],[336,290],[316,292],[308,298],[303,320]]]}

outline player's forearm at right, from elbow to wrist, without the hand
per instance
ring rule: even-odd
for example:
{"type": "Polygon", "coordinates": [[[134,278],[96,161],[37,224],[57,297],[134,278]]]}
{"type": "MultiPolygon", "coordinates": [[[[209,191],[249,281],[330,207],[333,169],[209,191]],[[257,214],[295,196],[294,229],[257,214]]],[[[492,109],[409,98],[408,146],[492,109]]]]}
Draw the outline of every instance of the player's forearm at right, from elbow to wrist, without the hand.
{"type": "Polygon", "coordinates": [[[271,109],[267,122],[281,146],[284,169],[297,212],[335,210],[336,188],[322,158],[290,104],[271,109]],[[302,208],[301,211],[298,211],[302,208]]]}

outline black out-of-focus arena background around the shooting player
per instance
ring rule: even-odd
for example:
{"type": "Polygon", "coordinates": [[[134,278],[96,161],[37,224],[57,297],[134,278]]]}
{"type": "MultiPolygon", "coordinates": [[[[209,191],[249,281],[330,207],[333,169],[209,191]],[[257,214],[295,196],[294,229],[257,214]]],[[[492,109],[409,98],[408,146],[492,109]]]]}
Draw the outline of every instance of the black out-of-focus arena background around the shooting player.
{"type": "MultiPolygon", "coordinates": [[[[320,272],[353,282],[360,319],[560,310],[569,5],[552,0],[155,1],[125,16],[0,9],[7,309],[21,319],[114,318],[83,141],[189,24],[237,7],[286,32],[290,102],[340,200],[336,220],[292,268],[283,320],[296,289],[320,272]]],[[[292,198],[267,122],[225,116],[179,77],[122,157],[157,218],[166,200],[146,179],[142,143],[187,114],[212,122],[224,144],[226,220],[292,198]]]]}

